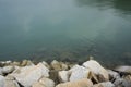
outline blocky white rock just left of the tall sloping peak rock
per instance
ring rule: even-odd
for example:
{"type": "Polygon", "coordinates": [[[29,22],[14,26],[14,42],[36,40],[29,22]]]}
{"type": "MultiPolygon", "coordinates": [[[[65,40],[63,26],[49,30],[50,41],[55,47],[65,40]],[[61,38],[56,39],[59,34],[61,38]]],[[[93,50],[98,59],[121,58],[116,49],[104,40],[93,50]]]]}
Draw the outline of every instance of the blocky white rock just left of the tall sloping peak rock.
{"type": "Polygon", "coordinates": [[[78,80],[78,79],[82,79],[82,78],[88,78],[91,75],[91,70],[83,67],[83,66],[79,66],[75,65],[70,70],[71,76],[70,76],[70,82],[72,80],[78,80]]]}

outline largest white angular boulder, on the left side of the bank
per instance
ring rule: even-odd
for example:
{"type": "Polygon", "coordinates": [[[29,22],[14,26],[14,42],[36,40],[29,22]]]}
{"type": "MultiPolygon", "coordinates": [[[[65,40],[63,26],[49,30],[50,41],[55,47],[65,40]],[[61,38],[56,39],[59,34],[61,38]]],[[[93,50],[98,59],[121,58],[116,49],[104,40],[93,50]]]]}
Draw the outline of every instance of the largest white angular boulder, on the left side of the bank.
{"type": "Polygon", "coordinates": [[[15,70],[12,74],[16,80],[25,87],[31,87],[41,76],[49,77],[49,70],[41,63],[34,66],[25,66],[15,70]]]}

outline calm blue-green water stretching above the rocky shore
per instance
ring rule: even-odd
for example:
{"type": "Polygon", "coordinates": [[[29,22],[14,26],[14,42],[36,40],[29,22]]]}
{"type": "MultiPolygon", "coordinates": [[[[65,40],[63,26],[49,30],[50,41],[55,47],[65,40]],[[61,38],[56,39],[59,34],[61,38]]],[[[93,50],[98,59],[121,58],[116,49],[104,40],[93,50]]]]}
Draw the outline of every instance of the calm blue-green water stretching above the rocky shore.
{"type": "Polygon", "coordinates": [[[0,61],[131,65],[130,0],[0,0],[0,61]]]}

